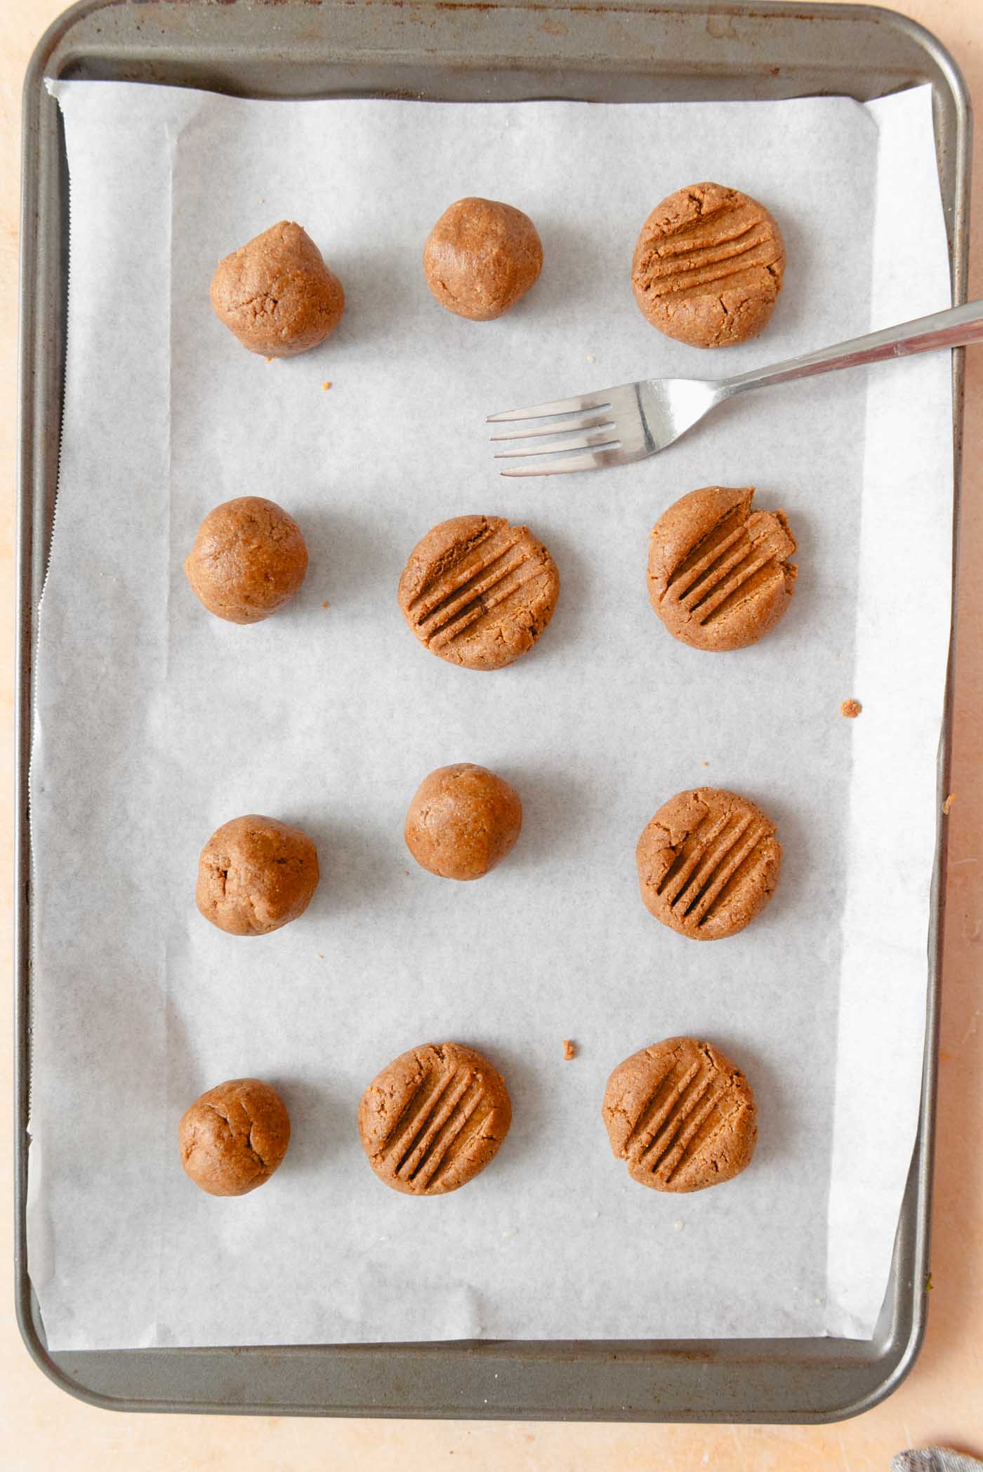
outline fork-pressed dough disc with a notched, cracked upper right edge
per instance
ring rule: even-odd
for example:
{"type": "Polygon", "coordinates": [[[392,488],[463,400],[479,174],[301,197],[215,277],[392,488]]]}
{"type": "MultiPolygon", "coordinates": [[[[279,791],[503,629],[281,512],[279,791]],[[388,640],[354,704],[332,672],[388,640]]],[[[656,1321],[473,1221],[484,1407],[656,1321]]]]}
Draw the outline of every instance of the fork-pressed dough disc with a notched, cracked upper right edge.
{"type": "Polygon", "coordinates": [[[665,511],[649,537],[649,602],[674,639],[743,649],[778,623],[795,592],[784,511],[752,511],[753,486],[705,486],[665,511]]]}

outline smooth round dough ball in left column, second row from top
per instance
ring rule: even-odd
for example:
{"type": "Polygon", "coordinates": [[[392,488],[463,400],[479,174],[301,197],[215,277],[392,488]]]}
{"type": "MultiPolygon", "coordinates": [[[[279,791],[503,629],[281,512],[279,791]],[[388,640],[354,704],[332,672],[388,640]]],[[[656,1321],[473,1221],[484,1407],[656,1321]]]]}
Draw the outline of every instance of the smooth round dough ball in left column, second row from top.
{"type": "Polygon", "coordinates": [[[308,571],[300,527],[275,500],[224,500],[199,527],[184,573],[216,618],[258,624],[290,602],[308,571]]]}

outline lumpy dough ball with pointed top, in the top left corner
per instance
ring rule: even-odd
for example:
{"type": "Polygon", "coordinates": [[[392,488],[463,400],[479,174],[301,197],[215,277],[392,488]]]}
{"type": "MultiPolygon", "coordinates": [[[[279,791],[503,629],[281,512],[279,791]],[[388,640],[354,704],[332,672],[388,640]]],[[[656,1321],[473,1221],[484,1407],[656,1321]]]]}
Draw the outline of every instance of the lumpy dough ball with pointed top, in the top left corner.
{"type": "Polygon", "coordinates": [[[308,231],[281,219],[219,261],[212,306],[250,353],[291,358],[334,331],[344,289],[308,231]]]}

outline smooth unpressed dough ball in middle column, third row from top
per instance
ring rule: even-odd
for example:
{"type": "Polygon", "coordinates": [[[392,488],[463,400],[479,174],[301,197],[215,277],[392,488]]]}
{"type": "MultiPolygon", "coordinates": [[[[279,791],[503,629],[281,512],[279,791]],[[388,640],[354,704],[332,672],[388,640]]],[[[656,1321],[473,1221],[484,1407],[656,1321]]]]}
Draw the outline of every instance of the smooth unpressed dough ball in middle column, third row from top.
{"type": "Polygon", "coordinates": [[[424,777],[406,814],[406,848],[441,879],[481,879],[512,852],[522,827],[515,788],[459,761],[424,777]]]}

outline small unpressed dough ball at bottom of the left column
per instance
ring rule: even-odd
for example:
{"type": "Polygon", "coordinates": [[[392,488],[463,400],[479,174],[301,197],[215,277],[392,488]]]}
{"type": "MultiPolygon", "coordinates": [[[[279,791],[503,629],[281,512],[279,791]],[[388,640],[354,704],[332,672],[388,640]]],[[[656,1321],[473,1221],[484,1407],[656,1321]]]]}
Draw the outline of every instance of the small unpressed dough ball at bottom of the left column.
{"type": "Polygon", "coordinates": [[[178,1125],[181,1164],[209,1195],[246,1195],[269,1181],[287,1154],[290,1116],[260,1079],[218,1083],[178,1125]]]}

